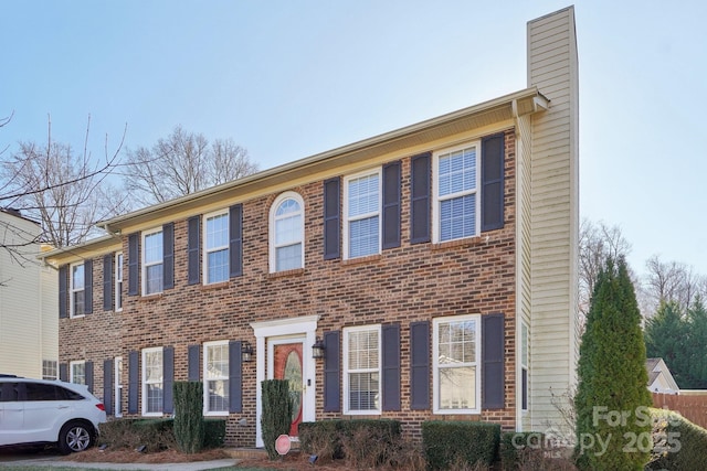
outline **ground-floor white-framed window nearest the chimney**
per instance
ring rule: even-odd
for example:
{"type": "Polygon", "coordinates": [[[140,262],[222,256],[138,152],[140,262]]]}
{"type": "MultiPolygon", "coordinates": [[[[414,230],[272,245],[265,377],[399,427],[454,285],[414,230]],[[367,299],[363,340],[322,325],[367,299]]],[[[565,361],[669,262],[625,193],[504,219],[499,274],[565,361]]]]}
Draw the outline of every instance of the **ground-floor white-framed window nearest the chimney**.
{"type": "Polygon", "coordinates": [[[435,414],[481,413],[481,317],[433,321],[435,414]]]}

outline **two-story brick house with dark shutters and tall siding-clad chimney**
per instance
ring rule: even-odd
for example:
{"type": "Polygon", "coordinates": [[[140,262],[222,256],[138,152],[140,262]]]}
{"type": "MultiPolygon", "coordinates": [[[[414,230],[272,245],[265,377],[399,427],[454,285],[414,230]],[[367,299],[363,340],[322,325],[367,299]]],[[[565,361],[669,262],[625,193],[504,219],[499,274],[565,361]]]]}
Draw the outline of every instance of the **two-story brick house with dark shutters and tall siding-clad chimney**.
{"type": "MultiPolygon", "coordinates": [[[[102,223],[54,250],[60,372],[109,415],[203,382],[262,446],[261,382],[300,420],[541,430],[576,383],[574,12],[528,23],[528,88],[102,223]],[[551,394],[552,393],[552,394],[551,394]]],[[[492,75],[493,66],[481,73],[492,75]]]]}

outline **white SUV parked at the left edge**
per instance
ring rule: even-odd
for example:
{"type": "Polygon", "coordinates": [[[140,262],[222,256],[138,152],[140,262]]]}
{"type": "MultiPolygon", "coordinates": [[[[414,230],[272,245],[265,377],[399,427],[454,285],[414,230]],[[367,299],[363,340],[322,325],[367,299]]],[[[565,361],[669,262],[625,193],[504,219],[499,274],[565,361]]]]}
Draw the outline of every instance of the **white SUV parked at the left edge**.
{"type": "Polygon", "coordinates": [[[95,445],[106,410],[84,385],[0,375],[0,446],[56,443],[68,454],[95,445]]]}

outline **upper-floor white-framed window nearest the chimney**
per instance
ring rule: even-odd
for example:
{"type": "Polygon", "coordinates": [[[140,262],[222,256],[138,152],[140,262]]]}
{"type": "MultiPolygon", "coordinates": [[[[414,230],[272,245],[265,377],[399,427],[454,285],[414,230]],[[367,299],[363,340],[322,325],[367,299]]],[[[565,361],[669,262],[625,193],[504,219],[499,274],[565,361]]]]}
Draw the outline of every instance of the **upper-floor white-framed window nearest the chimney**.
{"type": "Polygon", "coordinates": [[[435,242],[473,237],[479,233],[479,148],[474,142],[434,154],[435,242]]]}

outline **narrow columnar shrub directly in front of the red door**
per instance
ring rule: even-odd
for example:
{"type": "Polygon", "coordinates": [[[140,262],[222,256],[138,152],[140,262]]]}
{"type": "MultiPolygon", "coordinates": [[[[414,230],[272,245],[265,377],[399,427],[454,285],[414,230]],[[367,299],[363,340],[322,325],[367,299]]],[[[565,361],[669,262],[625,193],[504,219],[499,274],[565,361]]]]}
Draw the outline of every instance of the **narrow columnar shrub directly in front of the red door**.
{"type": "Polygon", "coordinates": [[[279,458],[279,453],[275,449],[275,440],[281,435],[289,435],[292,426],[293,404],[289,395],[289,382],[287,379],[265,379],[261,385],[263,443],[265,451],[267,451],[267,458],[276,460],[279,458]]]}

